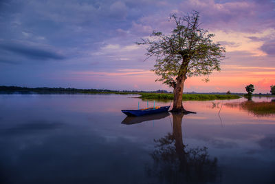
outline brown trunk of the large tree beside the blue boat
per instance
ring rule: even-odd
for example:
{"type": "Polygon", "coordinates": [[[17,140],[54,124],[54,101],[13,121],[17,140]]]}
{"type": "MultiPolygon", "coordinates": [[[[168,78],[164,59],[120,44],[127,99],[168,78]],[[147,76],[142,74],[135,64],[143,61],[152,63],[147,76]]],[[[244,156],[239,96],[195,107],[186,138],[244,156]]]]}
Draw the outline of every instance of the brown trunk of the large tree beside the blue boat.
{"type": "Polygon", "coordinates": [[[186,80],[185,76],[177,77],[177,83],[174,88],[174,101],[172,112],[186,112],[184,106],[182,105],[182,94],[184,92],[184,81],[186,80]]]}

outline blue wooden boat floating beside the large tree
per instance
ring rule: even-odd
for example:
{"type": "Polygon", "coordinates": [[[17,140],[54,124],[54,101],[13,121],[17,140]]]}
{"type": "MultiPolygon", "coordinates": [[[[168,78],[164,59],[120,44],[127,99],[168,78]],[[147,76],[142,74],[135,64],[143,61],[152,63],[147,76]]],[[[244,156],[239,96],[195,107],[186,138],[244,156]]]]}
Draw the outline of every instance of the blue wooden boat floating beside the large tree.
{"type": "Polygon", "coordinates": [[[155,108],[146,108],[140,110],[122,110],[127,116],[144,116],[148,114],[156,114],[160,112],[167,112],[170,108],[169,106],[155,107],[155,108]]]}

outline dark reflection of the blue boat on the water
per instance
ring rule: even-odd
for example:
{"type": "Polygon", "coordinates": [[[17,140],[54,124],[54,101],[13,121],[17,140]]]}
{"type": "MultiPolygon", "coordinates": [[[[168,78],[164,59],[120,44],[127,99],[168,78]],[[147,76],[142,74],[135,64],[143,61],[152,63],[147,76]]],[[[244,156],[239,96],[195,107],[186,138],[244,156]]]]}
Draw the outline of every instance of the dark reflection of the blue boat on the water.
{"type": "Polygon", "coordinates": [[[126,125],[132,125],[135,123],[142,123],[144,121],[164,119],[169,115],[170,115],[169,112],[162,112],[158,114],[151,114],[151,115],[144,115],[144,116],[126,116],[126,118],[121,123],[126,125]]]}

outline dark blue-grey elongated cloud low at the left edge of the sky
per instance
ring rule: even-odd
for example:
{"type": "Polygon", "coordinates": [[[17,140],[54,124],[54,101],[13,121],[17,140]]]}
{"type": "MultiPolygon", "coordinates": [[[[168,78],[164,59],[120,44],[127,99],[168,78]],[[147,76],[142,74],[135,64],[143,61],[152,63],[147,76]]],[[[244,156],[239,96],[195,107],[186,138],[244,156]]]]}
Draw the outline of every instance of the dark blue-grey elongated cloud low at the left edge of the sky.
{"type": "Polygon", "coordinates": [[[24,57],[28,57],[29,59],[65,59],[63,55],[58,54],[57,52],[54,52],[52,50],[47,50],[45,48],[36,48],[31,45],[24,45],[20,43],[0,43],[0,49],[12,52],[13,54],[20,54],[24,57]]]}

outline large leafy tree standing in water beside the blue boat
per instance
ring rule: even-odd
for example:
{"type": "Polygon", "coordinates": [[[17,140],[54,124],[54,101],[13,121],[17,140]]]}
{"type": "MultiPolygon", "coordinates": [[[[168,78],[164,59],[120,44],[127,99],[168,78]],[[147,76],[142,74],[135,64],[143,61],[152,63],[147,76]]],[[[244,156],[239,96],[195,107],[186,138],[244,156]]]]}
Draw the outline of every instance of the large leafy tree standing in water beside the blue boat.
{"type": "Polygon", "coordinates": [[[173,88],[173,112],[186,112],[182,105],[184,82],[191,76],[208,76],[213,70],[221,70],[225,48],[214,43],[208,30],[200,28],[199,12],[184,17],[170,15],[175,28],[170,34],[153,32],[149,39],[138,45],[148,45],[146,55],[156,57],[153,71],[162,83],[173,88]]]}

